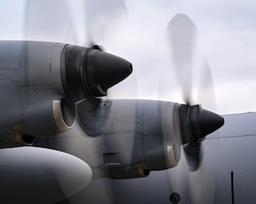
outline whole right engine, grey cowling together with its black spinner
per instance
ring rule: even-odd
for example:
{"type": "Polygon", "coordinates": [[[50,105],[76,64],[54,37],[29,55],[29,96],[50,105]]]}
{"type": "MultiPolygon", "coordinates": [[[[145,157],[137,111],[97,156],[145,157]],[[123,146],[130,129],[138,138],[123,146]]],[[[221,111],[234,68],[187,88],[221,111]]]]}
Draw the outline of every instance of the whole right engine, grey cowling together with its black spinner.
{"type": "Polygon", "coordinates": [[[181,146],[206,137],[224,122],[197,105],[138,99],[102,100],[96,108],[84,103],[78,104],[83,131],[47,142],[38,139],[36,145],[79,156],[89,163],[94,178],[139,178],[176,167],[181,146]]]}

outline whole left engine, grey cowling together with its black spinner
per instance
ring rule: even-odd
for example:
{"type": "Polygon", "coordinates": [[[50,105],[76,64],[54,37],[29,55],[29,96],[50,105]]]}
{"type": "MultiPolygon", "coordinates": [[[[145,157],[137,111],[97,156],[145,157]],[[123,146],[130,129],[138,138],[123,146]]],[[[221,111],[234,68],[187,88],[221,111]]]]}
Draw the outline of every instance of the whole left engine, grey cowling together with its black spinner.
{"type": "Polygon", "coordinates": [[[107,94],[131,74],[112,54],[56,42],[0,42],[0,147],[73,127],[75,103],[107,94]]]}

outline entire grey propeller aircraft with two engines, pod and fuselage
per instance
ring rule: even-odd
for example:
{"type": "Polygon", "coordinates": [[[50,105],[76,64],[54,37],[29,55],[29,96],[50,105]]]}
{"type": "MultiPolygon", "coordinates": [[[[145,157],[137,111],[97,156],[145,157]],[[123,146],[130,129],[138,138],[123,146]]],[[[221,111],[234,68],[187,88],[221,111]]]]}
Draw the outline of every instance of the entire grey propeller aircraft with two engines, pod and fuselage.
{"type": "MultiPolygon", "coordinates": [[[[44,6],[27,2],[27,28],[44,6]]],[[[256,114],[194,105],[195,26],[166,31],[184,104],[102,99],[134,68],[92,39],[0,42],[1,203],[253,203],[256,114]]]]}

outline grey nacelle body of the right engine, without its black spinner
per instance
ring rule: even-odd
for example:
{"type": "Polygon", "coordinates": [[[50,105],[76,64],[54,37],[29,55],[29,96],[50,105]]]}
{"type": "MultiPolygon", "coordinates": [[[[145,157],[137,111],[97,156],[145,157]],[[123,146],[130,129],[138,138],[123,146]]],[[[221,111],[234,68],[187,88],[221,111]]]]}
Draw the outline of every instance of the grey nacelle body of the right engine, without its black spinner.
{"type": "MultiPolygon", "coordinates": [[[[180,105],[150,100],[108,100],[79,118],[84,132],[102,137],[102,166],[110,178],[137,178],[176,167],[180,160],[180,105]]],[[[82,111],[83,112],[83,111],[82,111]]]]}

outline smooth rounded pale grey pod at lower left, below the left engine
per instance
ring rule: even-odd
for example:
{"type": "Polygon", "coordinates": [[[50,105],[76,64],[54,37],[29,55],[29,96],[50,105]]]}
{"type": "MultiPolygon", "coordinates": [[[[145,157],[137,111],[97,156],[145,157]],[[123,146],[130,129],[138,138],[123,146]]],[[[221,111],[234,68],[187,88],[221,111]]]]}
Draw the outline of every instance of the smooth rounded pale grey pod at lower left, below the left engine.
{"type": "Polygon", "coordinates": [[[83,190],[90,167],[67,153],[37,147],[0,150],[2,203],[55,203],[83,190]]]}

